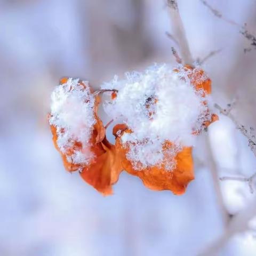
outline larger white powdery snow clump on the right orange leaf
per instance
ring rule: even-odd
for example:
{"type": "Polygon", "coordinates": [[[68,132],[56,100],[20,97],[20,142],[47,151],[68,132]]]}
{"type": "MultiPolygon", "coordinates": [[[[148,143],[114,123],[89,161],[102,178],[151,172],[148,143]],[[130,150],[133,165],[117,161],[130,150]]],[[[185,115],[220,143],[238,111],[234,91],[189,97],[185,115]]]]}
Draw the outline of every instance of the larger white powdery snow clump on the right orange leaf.
{"type": "MultiPolygon", "coordinates": [[[[208,98],[191,85],[188,72],[178,73],[165,64],[154,65],[143,73],[126,73],[125,79],[115,76],[101,86],[118,90],[117,97],[103,106],[111,118],[122,117],[132,131],[124,133],[121,140],[124,147],[129,145],[127,158],[135,169],[163,165],[166,154],[174,158],[183,146],[194,144],[193,131],[210,119],[203,103],[208,98]],[[163,152],[166,141],[173,143],[167,153],[163,152]]],[[[174,166],[173,159],[165,168],[172,170],[174,166]]]]}

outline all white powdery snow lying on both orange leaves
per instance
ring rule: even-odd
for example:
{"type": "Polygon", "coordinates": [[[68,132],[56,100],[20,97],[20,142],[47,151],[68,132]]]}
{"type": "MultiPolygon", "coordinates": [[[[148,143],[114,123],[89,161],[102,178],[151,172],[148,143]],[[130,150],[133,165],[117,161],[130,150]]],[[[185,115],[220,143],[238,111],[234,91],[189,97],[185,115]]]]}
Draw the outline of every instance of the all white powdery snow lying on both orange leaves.
{"type": "MultiPolygon", "coordinates": [[[[121,142],[129,147],[126,157],[134,169],[162,166],[173,170],[175,155],[182,147],[193,146],[194,132],[210,119],[209,98],[190,83],[189,72],[182,66],[174,71],[168,65],[154,65],[142,73],[127,73],[125,79],[115,76],[101,86],[118,91],[103,107],[111,119],[121,119],[129,127],[131,133],[123,133],[121,142]]],[[[70,163],[89,164],[96,122],[89,83],[69,78],[55,88],[51,98],[50,124],[57,128],[60,151],[70,163]]]]}

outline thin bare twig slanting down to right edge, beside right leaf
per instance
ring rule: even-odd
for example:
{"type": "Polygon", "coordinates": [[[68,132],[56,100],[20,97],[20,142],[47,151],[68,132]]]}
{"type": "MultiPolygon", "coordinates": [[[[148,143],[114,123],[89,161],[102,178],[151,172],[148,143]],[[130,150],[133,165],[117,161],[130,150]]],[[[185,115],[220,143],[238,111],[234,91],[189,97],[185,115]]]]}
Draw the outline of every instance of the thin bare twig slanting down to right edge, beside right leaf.
{"type": "Polygon", "coordinates": [[[227,109],[223,109],[222,107],[220,107],[218,104],[214,104],[214,107],[219,109],[220,113],[222,115],[225,115],[227,117],[229,117],[231,119],[231,121],[233,121],[233,123],[236,126],[236,129],[238,129],[239,131],[241,131],[241,133],[248,139],[248,146],[251,148],[253,154],[256,156],[256,140],[255,140],[255,135],[252,134],[254,129],[252,127],[250,127],[250,132],[245,128],[244,125],[240,124],[236,118],[230,113],[231,111],[231,105],[228,105],[227,109]]]}

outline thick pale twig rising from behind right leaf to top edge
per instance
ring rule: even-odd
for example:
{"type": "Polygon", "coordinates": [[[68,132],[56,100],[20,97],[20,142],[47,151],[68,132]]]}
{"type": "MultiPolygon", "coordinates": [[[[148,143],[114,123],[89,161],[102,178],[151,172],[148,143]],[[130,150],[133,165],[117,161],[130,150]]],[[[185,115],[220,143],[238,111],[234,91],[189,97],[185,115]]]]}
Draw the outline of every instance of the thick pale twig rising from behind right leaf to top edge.
{"type": "Polygon", "coordinates": [[[167,0],[167,6],[173,25],[174,38],[180,47],[181,59],[184,64],[193,66],[194,61],[189,50],[185,29],[179,13],[178,3],[176,0],[167,0]]]}

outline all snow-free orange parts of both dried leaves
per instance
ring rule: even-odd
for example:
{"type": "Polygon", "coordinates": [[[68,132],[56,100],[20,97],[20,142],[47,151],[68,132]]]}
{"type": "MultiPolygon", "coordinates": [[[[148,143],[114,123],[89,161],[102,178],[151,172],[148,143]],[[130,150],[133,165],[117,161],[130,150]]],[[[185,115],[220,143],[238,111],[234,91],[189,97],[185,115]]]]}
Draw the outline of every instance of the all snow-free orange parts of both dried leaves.
{"type": "MultiPolygon", "coordinates": [[[[205,75],[204,70],[186,65],[182,68],[175,69],[174,71],[177,73],[180,72],[180,74],[184,74],[185,72],[184,77],[181,77],[181,79],[185,79],[185,76],[188,77],[191,84],[193,84],[195,89],[200,92],[202,97],[206,97],[206,94],[211,93],[211,79],[205,75]]],[[[61,84],[67,83],[67,81],[68,78],[62,78],[61,84]]],[[[79,81],[79,83],[84,87],[87,86],[82,81],[79,81]]],[[[90,93],[93,93],[91,88],[90,93]]],[[[116,92],[113,92],[111,94],[111,99],[115,99],[116,97],[116,92]]],[[[154,163],[154,165],[151,166],[146,165],[147,167],[142,167],[140,170],[137,170],[133,165],[134,163],[127,157],[130,150],[129,142],[123,144],[121,141],[124,133],[132,133],[132,131],[126,124],[115,125],[113,134],[116,137],[116,143],[115,146],[111,145],[106,139],[106,129],[97,114],[100,103],[99,94],[95,94],[94,100],[93,114],[95,123],[93,125],[88,148],[84,148],[80,141],[74,141],[63,154],[57,143],[57,129],[55,126],[51,125],[53,142],[61,154],[65,168],[69,172],[79,170],[83,180],[103,195],[111,195],[113,193],[112,185],[118,181],[119,174],[122,170],[126,170],[128,173],[139,177],[143,184],[149,189],[171,190],[177,195],[185,193],[188,183],[194,179],[192,147],[183,147],[181,150],[178,148],[178,153],[176,153],[176,150],[172,150],[176,147],[174,143],[166,140],[164,145],[160,146],[160,148],[162,147],[161,152],[164,156],[161,163],[158,163],[157,165],[154,163]],[[79,153],[84,154],[84,150],[89,150],[94,155],[90,163],[75,164],[70,162],[70,156],[72,156],[74,152],[78,151],[79,153]],[[168,168],[166,166],[168,166],[168,168]],[[171,168],[169,168],[170,166],[171,168]]],[[[146,100],[145,106],[148,110],[148,118],[150,120],[154,119],[154,105],[156,103],[157,99],[154,98],[154,95],[146,100]]],[[[202,104],[207,107],[206,100],[203,101],[202,104]]],[[[208,110],[209,109],[207,109],[205,114],[207,117],[210,115],[210,110],[208,110]]],[[[218,120],[218,116],[215,114],[212,114],[210,117],[210,120],[204,122],[202,128],[194,131],[193,134],[198,134],[204,127],[207,127],[212,122],[218,120]]],[[[61,132],[65,133],[64,130],[59,131],[59,133],[61,132]]]]}

